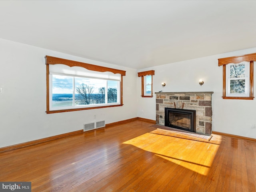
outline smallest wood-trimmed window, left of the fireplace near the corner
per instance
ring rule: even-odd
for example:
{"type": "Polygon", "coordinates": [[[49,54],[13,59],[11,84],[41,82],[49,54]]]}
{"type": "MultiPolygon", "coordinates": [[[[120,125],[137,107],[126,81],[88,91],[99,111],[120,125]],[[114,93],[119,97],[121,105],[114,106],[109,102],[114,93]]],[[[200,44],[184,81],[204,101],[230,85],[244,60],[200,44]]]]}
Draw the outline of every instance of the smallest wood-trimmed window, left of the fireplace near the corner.
{"type": "Polygon", "coordinates": [[[141,77],[141,92],[142,97],[153,97],[153,75],[154,70],[138,72],[138,77],[141,77]]]}

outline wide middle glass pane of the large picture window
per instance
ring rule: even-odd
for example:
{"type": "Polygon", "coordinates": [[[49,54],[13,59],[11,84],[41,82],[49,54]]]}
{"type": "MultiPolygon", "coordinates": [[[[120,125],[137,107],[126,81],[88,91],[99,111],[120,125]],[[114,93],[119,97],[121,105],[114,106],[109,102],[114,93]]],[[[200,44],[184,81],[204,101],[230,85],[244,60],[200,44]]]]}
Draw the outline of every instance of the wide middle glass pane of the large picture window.
{"type": "Polygon", "coordinates": [[[105,103],[106,80],[75,78],[75,105],[105,103]]]}

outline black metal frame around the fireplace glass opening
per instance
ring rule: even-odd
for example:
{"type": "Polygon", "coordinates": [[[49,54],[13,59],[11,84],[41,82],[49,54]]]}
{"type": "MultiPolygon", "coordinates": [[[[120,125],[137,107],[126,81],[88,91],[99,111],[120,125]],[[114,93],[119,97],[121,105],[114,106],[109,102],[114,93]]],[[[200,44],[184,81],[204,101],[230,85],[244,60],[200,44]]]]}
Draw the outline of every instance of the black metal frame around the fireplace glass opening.
{"type": "Polygon", "coordinates": [[[164,108],[164,126],[186,130],[190,132],[196,132],[196,111],[187,109],[164,108]],[[169,122],[169,112],[182,115],[190,115],[190,129],[171,124],[169,122]]]}

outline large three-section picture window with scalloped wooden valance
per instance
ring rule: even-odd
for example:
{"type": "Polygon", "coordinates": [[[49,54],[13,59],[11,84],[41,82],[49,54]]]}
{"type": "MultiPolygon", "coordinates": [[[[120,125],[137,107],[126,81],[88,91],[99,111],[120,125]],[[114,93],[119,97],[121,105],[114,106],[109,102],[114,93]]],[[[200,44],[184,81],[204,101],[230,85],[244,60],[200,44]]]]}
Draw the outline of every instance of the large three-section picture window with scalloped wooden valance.
{"type": "Polygon", "coordinates": [[[47,113],[122,105],[125,71],[50,56],[46,65],[47,113]]]}

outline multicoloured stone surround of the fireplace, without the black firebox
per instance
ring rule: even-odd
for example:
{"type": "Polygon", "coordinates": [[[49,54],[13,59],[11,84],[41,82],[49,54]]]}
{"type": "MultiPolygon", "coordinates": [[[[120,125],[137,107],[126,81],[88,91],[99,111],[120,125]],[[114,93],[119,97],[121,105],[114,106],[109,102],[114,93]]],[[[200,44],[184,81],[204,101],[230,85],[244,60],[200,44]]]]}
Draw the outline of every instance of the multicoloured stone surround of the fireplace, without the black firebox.
{"type": "Polygon", "coordinates": [[[156,92],[156,124],[164,125],[164,108],[196,110],[196,133],[212,134],[213,92],[156,92]]]}

